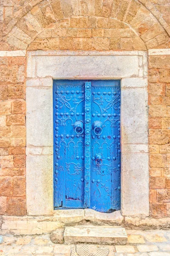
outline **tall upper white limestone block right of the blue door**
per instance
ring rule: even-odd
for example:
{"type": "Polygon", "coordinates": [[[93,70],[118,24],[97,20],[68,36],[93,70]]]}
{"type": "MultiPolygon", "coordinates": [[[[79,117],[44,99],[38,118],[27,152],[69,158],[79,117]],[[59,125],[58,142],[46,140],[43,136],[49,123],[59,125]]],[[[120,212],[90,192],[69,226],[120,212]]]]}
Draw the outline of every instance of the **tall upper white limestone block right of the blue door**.
{"type": "Polygon", "coordinates": [[[147,144],[147,88],[122,90],[121,101],[122,144],[147,144]]]}

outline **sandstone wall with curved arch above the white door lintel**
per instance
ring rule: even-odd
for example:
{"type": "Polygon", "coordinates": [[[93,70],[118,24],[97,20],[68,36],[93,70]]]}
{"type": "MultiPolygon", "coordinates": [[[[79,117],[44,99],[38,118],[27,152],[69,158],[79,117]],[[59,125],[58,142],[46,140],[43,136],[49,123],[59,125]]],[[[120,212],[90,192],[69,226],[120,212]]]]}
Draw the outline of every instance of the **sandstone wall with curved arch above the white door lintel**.
{"type": "Polygon", "coordinates": [[[32,0],[6,6],[4,1],[0,9],[0,49],[167,48],[169,4],[163,2],[32,0]],[[98,28],[102,33],[92,32],[98,28]]]}

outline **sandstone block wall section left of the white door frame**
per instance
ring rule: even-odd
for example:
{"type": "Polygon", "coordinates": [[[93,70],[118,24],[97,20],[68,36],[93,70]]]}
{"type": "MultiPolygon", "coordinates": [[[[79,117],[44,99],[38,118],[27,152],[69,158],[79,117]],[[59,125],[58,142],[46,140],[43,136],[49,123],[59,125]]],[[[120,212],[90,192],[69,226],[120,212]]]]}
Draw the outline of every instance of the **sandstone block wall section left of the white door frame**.
{"type": "Polygon", "coordinates": [[[0,214],[26,214],[26,57],[0,57],[0,214]]]}

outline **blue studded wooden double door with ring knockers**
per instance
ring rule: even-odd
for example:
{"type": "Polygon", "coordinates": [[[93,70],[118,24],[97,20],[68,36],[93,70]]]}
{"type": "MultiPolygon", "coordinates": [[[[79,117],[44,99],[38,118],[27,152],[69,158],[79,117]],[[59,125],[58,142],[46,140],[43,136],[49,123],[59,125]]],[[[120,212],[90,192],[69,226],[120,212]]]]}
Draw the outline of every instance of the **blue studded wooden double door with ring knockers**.
{"type": "Polygon", "coordinates": [[[54,208],[120,209],[120,80],[54,80],[54,208]]]}

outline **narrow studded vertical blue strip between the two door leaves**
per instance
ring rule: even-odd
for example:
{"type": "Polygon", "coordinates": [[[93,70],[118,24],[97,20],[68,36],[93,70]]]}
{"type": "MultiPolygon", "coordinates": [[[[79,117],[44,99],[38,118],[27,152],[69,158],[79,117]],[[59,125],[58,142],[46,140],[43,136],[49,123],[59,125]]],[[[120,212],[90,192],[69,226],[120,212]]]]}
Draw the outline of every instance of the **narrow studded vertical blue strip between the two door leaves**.
{"type": "Polygon", "coordinates": [[[85,193],[84,207],[90,207],[91,174],[91,82],[85,82],[85,193]]]}

